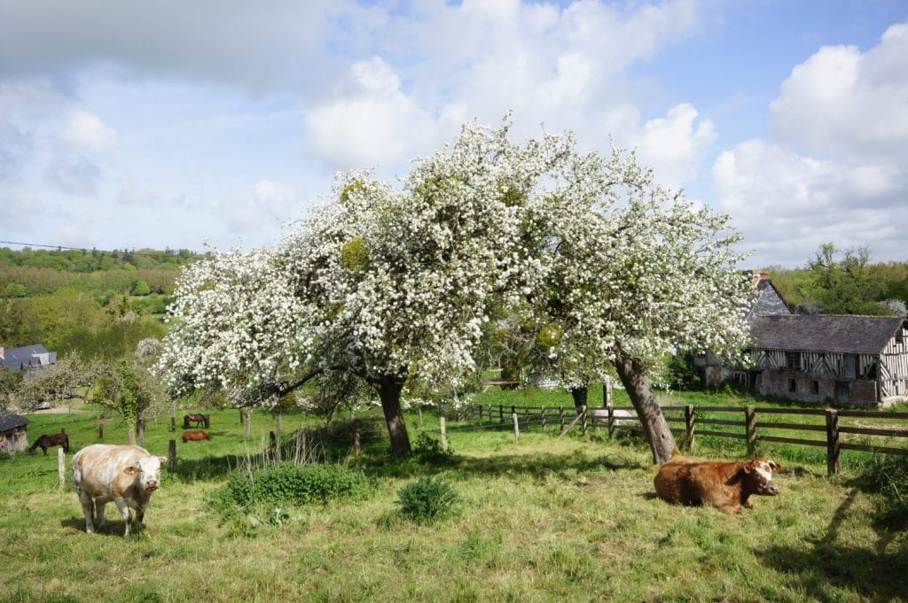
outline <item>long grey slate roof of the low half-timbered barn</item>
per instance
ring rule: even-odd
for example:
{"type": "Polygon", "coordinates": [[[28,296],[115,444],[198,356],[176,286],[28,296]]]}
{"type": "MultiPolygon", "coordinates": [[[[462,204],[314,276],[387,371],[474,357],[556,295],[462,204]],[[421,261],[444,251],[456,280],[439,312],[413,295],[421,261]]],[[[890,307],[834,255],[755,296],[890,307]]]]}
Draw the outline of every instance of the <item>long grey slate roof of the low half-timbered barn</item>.
{"type": "Polygon", "coordinates": [[[761,315],[750,319],[754,347],[838,354],[880,354],[903,316],[761,315]]]}

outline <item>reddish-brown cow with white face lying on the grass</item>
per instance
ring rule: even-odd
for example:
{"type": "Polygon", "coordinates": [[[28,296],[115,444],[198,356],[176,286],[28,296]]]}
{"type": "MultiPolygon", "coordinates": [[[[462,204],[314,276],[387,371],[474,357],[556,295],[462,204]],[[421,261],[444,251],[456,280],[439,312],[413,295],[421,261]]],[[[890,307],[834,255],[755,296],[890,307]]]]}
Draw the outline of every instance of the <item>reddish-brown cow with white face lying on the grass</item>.
{"type": "Polygon", "coordinates": [[[767,459],[720,462],[673,456],[656,473],[656,493],[664,501],[692,506],[711,505],[725,513],[754,505],[752,494],[775,496],[773,473],[782,465],[767,459]]]}

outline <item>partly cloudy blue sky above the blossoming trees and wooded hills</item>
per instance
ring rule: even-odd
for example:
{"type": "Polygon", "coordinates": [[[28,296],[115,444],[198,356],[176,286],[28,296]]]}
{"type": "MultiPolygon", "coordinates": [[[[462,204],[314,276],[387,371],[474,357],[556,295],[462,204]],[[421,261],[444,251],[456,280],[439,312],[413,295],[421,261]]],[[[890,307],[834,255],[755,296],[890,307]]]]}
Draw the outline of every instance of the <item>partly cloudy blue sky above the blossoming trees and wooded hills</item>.
{"type": "Polygon", "coordinates": [[[0,0],[0,240],[272,246],[509,110],[636,148],[750,267],[908,260],[905,0],[0,0]]]}

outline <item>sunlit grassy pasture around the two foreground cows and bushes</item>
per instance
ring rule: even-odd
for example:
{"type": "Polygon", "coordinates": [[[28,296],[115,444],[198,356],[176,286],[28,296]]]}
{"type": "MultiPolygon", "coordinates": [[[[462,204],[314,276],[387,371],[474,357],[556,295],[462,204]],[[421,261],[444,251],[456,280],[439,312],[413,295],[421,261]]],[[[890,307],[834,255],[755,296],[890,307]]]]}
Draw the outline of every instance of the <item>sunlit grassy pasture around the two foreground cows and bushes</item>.
{"type": "MultiPolygon", "coordinates": [[[[489,394],[570,404],[567,394],[489,394]]],[[[32,440],[65,427],[71,452],[97,441],[94,413],[30,418],[32,440]]],[[[414,443],[437,437],[435,414],[424,421],[408,415],[414,443]]],[[[304,422],[285,415],[285,433],[304,422]]],[[[454,462],[393,461],[372,444],[359,461],[340,459],[370,477],[364,500],[260,509],[255,523],[224,520],[207,499],[262,450],[271,416],[255,414],[248,440],[236,411],[212,413],[212,442],[183,444],[180,425],[169,427],[169,417],[149,424],[146,448],[166,454],[177,439],[180,468],[163,473],[145,525],[125,540],[113,505],[100,533],[84,533],[70,477],[57,487],[56,449],[0,460],[0,603],[908,600],[908,534],[881,524],[878,495],[847,467],[830,480],[822,460],[784,446],[773,451],[782,493],[728,517],[656,499],[656,470],[635,437],[534,430],[515,445],[507,430],[452,430],[454,462]],[[398,491],[423,475],[456,488],[459,514],[432,525],[400,517],[398,491]]],[[[114,421],[104,441],[123,443],[124,433],[114,421]]]]}

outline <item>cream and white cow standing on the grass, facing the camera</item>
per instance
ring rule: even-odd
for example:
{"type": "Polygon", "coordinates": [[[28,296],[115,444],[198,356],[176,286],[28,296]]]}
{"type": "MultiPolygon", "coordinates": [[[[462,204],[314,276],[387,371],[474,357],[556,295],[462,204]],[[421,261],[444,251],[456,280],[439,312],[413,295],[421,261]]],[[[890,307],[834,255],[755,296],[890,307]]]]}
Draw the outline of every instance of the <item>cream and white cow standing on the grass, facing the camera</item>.
{"type": "Polygon", "coordinates": [[[73,483],[85,513],[85,531],[94,532],[95,511],[98,526],[104,525],[104,507],[114,501],[126,524],[123,536],[129,536],[133,523],[129,508],[141,522],[152,492],[161,486],[161,463],[166,460],[139,446],[92,444],[76,452],[73,483]]]}

